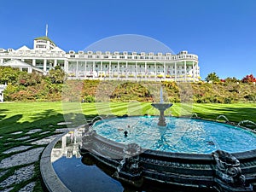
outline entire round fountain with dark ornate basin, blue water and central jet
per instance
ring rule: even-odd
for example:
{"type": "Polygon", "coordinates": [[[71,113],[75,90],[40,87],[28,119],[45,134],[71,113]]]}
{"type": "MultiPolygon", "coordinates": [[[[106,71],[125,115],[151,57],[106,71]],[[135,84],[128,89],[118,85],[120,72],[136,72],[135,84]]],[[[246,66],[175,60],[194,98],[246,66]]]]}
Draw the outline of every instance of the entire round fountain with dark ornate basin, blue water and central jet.
{"type": "Polygon", "coordinates": [[[149,181],[192,191],[252,192],[252,183],[256,183],[255,134],[202,119],[165,118],[172,103],[163,101],[162,91],[160,102],[152,103],[160,110],[158,122],[155,117],[143,116],[96,121],[84,132],[80,154],[84,158],[90,154],[114,170],[113,177],[136,187],[149,181]],[[128,137],[119,128],[127,126],[131,128],[128,137]]]}

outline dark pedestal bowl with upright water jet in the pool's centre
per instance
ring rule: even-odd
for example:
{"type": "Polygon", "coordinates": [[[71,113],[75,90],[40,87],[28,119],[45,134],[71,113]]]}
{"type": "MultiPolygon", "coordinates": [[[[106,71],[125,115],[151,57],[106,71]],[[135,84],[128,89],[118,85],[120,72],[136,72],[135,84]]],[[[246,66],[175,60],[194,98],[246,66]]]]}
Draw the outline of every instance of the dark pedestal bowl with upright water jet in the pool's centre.
{"type": "Polygon", "coordinates": [[[172,103],[166,103],[163,99],[163,88],[160,88],[160,102],[152,103],[151,104],[154,108],[157,108],[160,111],[159,122],[157,125],[166,126],[166,118],[165,118],[165,111],[167,108],[172,107],[172,103]]]}

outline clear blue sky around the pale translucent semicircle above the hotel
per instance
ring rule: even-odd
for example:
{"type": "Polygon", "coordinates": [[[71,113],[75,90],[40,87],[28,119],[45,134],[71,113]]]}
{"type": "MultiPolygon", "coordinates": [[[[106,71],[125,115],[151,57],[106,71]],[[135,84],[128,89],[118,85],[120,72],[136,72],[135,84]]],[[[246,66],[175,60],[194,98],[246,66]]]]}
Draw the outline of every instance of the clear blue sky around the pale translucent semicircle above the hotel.
{"type": "MultiPolygon", "coordinates": [[[[256,75],[255,0],[0,0],[0,48],[32,48],[48,36],[66,51],[112,36],[154,38],[174,53],[199,55],[201,77],[256,75]]],[[[157,46],[154,52],[158,52],[157,46]]],[[[136,51],[148,52],[137,46],[136,51]]]]}

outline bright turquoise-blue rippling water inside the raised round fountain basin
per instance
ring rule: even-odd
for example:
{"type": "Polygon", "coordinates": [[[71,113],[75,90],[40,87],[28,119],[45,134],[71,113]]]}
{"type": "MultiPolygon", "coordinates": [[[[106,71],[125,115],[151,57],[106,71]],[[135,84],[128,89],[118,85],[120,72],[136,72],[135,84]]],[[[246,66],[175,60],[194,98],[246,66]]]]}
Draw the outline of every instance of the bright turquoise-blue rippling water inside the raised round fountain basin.
{"type": "Polygon", "coordinates": [[[114,142],[165,152],[209,154],[222,149],[236,153],[256,148],[256,134],[233,125],[175,117],[166,117],[166,127],[157,123],[158,117],[104,119],[93,129],[114,142]],[[127,137],[124,131],[128,131],[127,137]]]}

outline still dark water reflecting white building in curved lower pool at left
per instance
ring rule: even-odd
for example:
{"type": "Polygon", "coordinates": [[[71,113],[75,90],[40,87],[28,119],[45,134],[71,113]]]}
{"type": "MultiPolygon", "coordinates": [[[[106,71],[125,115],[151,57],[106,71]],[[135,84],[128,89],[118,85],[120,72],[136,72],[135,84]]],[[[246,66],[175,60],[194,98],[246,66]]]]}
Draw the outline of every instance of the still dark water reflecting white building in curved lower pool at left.
{"type": "Polygon", "coordinates": [[[79,128],[68,132],[52,149],[51,162],[61,182],[76,192],[124,191],[121,183],[102,172],[91,159],[82,162],[79,144],[83,131],[84,128],[79,128]]]}

